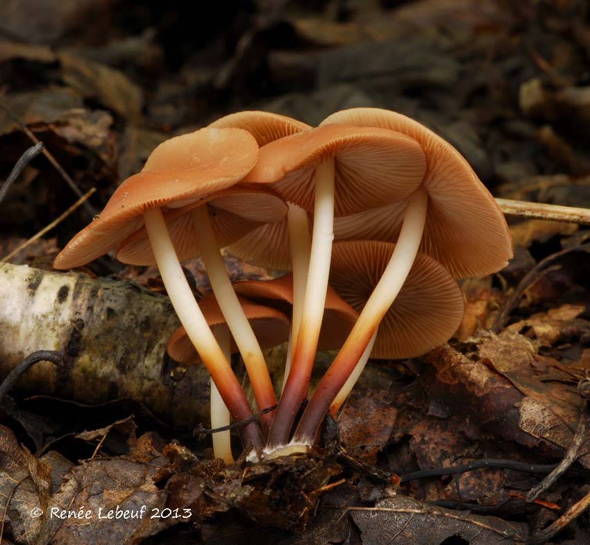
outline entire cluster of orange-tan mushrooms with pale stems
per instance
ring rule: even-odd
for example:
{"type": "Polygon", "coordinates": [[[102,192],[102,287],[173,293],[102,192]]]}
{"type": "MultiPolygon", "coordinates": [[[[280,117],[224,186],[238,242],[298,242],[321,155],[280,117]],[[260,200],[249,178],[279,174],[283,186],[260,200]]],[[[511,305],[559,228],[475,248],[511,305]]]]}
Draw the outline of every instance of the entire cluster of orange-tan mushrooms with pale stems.
{"type": "MultiPolygon", "coordinates": [[[[412,358],[446,342],[463,314],[457,278],[505,267],[512,240],[448,142],[396,112],[357,108],[317,128],[239,112],[160,144],[54,267],[112,250],[124,263],[158,266],[182,324],[169,354],[208,369],[212,427],[246,423],[244,447],[276,456],[307,451],[370,357],[412,358]],[[232,285],[223,247],[286,274],[232,285]],[[198,255],[212,287],[199,303],[180,267],[198,255]],[[285,341],[277,404],[262,350],[285,341]],[[338,353],[298,419],[319,349],[338,353]]],[[[227,430],[213,434],[213,447],[233,461],[227,430]]]]}

